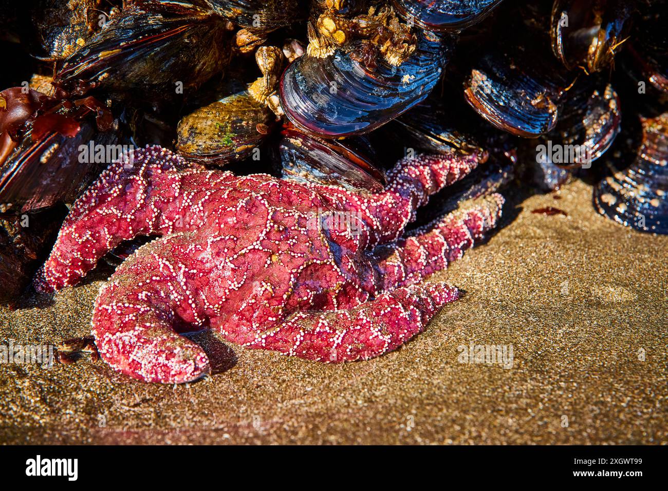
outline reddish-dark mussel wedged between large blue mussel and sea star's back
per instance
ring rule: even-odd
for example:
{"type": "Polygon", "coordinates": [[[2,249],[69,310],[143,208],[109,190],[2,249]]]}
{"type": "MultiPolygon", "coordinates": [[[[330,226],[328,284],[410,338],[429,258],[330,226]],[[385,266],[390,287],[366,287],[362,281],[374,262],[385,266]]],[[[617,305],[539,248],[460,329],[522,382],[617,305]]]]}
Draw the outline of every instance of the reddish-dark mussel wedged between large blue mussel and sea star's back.
{"type": "Polygon", "coordinates": [[[372,163],[373,150],[364,137],[325,140],[286,125],[279,151],[283,177],[297,182],[368,192],[380,192],[387,184],[383,170],[372,163]]]}

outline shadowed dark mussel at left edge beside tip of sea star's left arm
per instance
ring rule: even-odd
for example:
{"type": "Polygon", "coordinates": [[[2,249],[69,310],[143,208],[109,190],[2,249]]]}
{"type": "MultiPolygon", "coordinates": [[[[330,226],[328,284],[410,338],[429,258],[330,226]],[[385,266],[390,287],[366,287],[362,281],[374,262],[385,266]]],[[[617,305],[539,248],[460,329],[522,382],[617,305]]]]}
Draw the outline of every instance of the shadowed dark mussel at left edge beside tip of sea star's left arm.
{"type": "Polygon", "coordinates": [[[11,302],[43,263],[67,214],[64,205],[41,212],[0,216],[0,303],[11,302]]]}

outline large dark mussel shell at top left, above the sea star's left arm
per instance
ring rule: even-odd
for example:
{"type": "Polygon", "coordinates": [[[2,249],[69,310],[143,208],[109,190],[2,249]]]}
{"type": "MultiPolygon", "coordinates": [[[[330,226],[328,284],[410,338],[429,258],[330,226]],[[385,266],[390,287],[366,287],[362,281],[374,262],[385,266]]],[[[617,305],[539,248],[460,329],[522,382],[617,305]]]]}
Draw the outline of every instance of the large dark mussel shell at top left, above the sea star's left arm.
{"type": "Polygon", "coordinates": [[[131,5],[65,59],[54,85],[73,94],[99,88],[139,101],[184,94],[228,62],[224,24],[188,3],[131,5]]]}

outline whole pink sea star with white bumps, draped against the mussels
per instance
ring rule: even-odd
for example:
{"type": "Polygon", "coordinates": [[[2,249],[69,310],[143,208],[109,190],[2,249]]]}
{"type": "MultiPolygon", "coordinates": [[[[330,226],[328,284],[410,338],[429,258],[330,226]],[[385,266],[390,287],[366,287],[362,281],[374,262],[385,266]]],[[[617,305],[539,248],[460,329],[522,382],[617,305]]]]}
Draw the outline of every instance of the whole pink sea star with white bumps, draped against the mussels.
{"type": "Polygon", "coordinates": [[[405,233],[478,154],[402,160],[379,194],[206,170],[158,146],[132,157],[77,200],[35,285],[73,285],[122,240],[162,235],[118,267],[92,319],[102,358],[145,381],[207,373],[204,351],[180,333],[208,326],[246,347],[323,361],[397,348],[458,297],[418,282],[494,227],[504,201],[492,194],[405,233]]]}

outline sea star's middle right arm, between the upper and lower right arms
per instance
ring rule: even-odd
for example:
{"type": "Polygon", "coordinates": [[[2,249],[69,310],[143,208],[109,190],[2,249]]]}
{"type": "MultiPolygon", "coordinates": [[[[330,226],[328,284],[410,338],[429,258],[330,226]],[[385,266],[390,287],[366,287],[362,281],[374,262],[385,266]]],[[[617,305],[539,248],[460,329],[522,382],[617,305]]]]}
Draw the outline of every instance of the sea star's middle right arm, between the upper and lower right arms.
{"type": "Polygon", "coordinates": [[[496,226],[503,204],[500,194],[472,200],[393,244],[377,247],[373,255],[378,261],[380,291],[413,285],[448,267],[496,226]]]}

